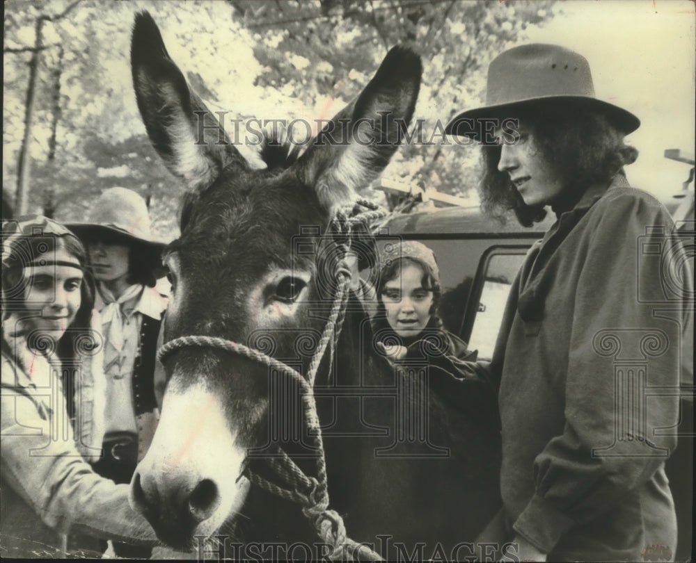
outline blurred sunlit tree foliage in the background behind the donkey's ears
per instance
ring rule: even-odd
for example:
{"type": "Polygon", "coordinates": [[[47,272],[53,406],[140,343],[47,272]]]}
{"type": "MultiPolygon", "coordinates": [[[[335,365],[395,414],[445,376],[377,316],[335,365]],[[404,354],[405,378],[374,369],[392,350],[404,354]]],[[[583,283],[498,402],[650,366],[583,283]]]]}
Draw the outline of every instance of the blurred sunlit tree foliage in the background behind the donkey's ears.
{"type": "MultiPolygon", "coordinates": [[[[70,3],[5,3],[3,193],[15,189],[36,19],[61,13],[70,3]]],[[[151,149],[132,93],[129,32],[139,10],[155,17],[193,88],[212,111],[226,112],[228,129],[232,120],[252,117],[331,117],[358,94],[389,47],[409,45],[424,62],[416,117],[424,120],[425,142],[403,147],[385,174],[473,195],[475,151],[448,146],[442,127],[458,109],[482,103],[489,60],[526,26],[543,22],[550,4],[83,0],[44,28],[31,124],[31,211],[81,219],[102,189],[120,185],[149,197],[159,234],[175,235],[181,188],[151,149]]],[[[253,149],[245,154],[255,158],[253,149]]]]}

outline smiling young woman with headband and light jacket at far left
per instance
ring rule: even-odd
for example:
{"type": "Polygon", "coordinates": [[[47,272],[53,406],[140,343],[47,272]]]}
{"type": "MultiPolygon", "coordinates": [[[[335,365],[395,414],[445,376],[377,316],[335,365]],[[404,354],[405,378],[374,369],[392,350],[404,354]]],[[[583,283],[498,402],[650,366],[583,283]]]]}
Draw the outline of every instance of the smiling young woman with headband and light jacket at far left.
{"type": "Polygon", "coordinates": [[[86,263],[78,238],[52,220],[3,223],[0,545],[7,557],[65,557],[77,547],[98,555],[97,541],[84,535],[155,544],[150,525],[129,507],[128,487],[88,464],[100,454],[104,389],[86,263]]]}

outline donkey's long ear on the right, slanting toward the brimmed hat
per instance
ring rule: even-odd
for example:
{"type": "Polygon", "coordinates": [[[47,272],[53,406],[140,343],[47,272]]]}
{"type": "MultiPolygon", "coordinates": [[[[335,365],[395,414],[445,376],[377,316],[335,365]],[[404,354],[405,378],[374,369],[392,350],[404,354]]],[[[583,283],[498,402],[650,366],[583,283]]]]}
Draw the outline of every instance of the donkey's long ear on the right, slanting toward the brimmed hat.
{"type": "Polygon", "coordinates": [[[314,186],[333,211],[354,190],[381,174],[413,117],[422,65],[410,49],[394,47],[361,95],[326,124],[296,163],[299,178],[314,186]]]}

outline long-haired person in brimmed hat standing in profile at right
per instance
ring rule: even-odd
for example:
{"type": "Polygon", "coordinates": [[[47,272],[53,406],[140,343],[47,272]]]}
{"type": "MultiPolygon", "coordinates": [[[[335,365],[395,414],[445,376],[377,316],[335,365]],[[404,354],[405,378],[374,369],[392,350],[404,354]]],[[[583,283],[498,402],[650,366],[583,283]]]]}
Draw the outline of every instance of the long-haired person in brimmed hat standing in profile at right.
{"type": "Polygon", "coordinates": [[[693,274],[669,213],[626,181],[639,124],[594,96],[585,58],[530,44],[493,60],[487,105],[446,129],[482,143],[485,209],[557,216],[512,285],[493,360],[466,368],[498,386],[503,434],[504,508],[480,541],[513,540],[518,560],[674,554],[665,429],[693,274]]]}

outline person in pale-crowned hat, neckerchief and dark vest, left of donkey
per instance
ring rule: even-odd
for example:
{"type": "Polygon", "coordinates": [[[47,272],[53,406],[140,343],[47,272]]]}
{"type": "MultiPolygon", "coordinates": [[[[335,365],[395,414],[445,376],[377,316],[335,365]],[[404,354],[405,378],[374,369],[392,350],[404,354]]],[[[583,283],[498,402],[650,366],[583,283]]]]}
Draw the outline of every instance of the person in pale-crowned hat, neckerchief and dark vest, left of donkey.
{"type": "MultiPolygon", "coordinates": [[[[130,482],[157,428],[157,337],[166,299],[156,289],[164,243],[152,238],[145,200],[132,190],[105,190],[88,222],[70,224],[87,247],[97,281],[105,338],[104,456],[95,471],[130,482]]],[[[117,555],[146,554],[114,545],[117,555]]]]}

